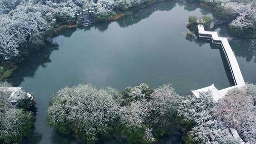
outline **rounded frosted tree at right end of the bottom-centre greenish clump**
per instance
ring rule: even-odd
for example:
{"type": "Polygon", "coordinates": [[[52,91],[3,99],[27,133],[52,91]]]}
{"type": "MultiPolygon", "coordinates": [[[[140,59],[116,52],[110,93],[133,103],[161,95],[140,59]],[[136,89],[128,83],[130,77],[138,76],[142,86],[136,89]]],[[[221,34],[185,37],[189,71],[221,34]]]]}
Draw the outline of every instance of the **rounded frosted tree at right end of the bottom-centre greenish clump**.
{"type": "Polygon", "coordinates": [[[181,98],[174,91],[171,84],[164,84],[155,89],[152,93],[152,100],[149,102],[150,121],[154,135],[159,137],[166,134],[174,122],[176,109],[181,98]]]}

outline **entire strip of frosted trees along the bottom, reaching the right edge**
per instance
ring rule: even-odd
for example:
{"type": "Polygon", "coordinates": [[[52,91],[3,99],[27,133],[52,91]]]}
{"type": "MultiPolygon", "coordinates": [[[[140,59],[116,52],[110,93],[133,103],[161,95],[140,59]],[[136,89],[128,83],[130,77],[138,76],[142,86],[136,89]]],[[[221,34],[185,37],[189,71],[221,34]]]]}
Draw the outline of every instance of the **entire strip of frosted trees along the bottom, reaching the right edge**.
{"type": "Polygon", "coordinates": [[[140,84],[122,92],[79,84],[54,95],[47,124],[87,144],[104,135],[152,144],[174,129],[182,132],[185,144],[255,144],[256,85],[233,89],[214,101],[211,91],[200,98],[183,97],[170,84],[156,89],[140,84]]]}

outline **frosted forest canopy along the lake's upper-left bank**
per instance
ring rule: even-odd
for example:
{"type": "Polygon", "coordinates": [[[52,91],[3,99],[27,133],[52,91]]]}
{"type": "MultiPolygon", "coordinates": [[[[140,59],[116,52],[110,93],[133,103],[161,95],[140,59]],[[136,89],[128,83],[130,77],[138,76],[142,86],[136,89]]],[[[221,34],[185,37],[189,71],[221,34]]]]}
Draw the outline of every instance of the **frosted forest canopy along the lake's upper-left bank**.
{"type": "Polygon", "coordinates": [[[58,24],[79,21],[81,9],[100,20],[148,0],[0,0],[0,62],[18,61],[45,45],[58,24]]]}

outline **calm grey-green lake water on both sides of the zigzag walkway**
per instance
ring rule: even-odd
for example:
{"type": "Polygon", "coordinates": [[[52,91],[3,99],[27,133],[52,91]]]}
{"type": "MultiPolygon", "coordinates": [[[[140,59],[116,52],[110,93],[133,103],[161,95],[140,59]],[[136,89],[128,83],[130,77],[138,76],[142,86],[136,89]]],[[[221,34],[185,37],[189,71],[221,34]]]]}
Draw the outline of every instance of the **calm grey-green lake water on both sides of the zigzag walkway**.
{"type": "MultiPolygon", "coordinates": [[[[218,89],[232,85],[220,47],[185,36],[188,17],[202,14],[212,16],[210,10],[197,4],[165,1],[116,22],[62,31],[52,39],[52,45],[21,63],[8,80],[36,95],[36,130],[26,144],[79,143],[45,123],[50,98],[65,86],[92,83],[121,91],[140,83],[152,87],[172,83],[180,95],[187,95],[212,83],[218,89]]],[[[212,28],[229,38],[245,81],[255,83],[256,42],[232,37],[226,29],[212,28]]],[[[176,144],[179,140],[170,135],[162,143],[176,144]]]]}

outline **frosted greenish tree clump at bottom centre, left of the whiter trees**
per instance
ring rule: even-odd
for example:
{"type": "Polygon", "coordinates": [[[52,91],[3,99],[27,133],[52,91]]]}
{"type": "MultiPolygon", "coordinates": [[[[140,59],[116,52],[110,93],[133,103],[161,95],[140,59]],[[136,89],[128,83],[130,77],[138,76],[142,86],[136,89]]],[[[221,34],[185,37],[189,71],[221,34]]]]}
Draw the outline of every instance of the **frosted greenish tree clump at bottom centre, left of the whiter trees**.
{"type": "Polygon", "coordinates": [[[170,84],[154,90],[143,83],[121,93],[79,84],[57,92],[47,123],[63,134],[74,132],[87,143],[114,130],[130,143],[151,144],[170,130],[178,101],[170,84]]]}

